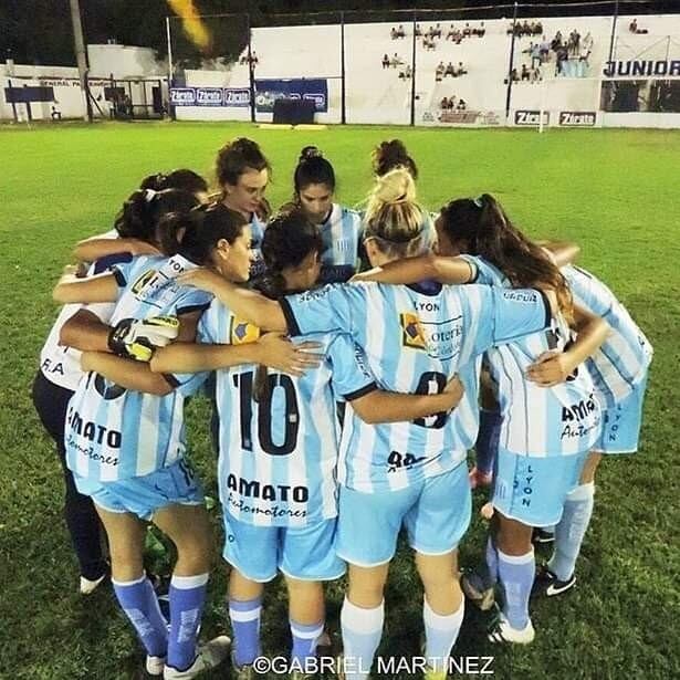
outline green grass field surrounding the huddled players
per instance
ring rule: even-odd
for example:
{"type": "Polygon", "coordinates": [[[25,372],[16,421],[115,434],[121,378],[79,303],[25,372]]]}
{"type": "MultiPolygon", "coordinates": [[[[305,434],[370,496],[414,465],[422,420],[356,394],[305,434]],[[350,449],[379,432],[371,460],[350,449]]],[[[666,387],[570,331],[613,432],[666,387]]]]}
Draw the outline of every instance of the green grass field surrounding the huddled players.
{"type": "MultiPolygon", "coordinates": [[[[109,589],[76,595],[61,471],[33,412],[30,384],[56,314],[50,291],[73,243],[108,229],[143,176],[181,166],[210,175],[217,148],[238,135],[257,139],[271,159],[274,206],[290,196],[302,146],[324,149],[339,178],[339,199],[352,205],[369,187],[372,147],[399,136],[420,166],[420,198],[429,208],[489,191],[531,234],[582,245],[582,263],[617,292],[655,346],[641,449],[600,467],[578,586],[534,606],[535,642],[496,649],[484,641],[484,619],[469,611],[454,656],[495,656],[502,679],[680,678],[680,132],[303,133],[236,124],[0,128],[0,677],[137,676],[142,653],[109,589]]],[[[192,405],[191,423],[193,458],[215,495],[205,405],[192,405]]],[[[483,531],[475,519],[461,547],[463,565],[480,557],[483,531]]],[[[224,585],[219,565],[206,636],[227,626],[224,585]]],[[[341,594],[341,585],[328,594],[335,629],[341,594]]],[[[381,653],[420,653],[421,593],[406,550],[393,565],[387,604],[381,653]]],[[[269,588],[263,631],[265,651],[284,653],[282,584],[269,588]]]]}

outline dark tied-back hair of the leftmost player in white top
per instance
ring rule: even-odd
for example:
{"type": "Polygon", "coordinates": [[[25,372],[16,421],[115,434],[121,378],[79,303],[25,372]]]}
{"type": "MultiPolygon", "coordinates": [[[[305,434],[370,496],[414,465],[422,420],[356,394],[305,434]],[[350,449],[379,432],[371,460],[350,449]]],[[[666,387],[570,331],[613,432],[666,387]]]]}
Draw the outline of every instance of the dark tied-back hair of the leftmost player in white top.
{"type": "Polygon", "coordinates": [[[114,228],[121,238],[142,239],[154,243],[161,218],[170,212],[188,212],[199,205],[196,196],[180,189],[138,189],[123,203],[114,228]]]}

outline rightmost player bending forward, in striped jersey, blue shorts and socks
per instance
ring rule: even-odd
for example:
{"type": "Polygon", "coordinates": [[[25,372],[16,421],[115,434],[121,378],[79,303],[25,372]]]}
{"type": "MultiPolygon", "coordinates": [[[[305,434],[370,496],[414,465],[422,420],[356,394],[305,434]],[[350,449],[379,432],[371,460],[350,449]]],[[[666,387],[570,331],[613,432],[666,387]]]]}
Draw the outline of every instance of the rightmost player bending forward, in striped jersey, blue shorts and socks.
{"type": "Polygon", "coordinates": [[[609,325],[609,335],[585,364],[603,409],[603,430],[586,460],[578,487],[567,495],[554,532],[553,556],[536,574],[534,593],[547,597],[561,595],[576,583],[576,561],[593,516],[595,472],[603,453],[637,451],[647,373],[653,352],[626,307],[601,281],[577,266],[565,266],[562,273],[574,300],[604,318],[609,325]]]}

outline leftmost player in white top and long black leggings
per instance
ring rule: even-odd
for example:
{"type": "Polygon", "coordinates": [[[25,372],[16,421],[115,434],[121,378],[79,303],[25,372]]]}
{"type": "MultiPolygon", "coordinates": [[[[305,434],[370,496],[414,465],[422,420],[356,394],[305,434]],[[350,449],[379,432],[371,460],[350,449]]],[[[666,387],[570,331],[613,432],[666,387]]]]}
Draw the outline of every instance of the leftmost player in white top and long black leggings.
{"type": "MultiPolygon", "coordinates": [[[[147,200],[146,191],[135,191],[116,217],[115,229],[98,239],[104,248],[88,252],[88,258],[96,260],[96,263],[90,268],[90,273],[97,274],[117,262],[129,261],[130,255],[125,252],[127,245],[121,248],[122,234],[134,239],[136,243],[148,247],[149,250],[156,250],[156,227],[159,219],[168,212],[189,210],[196,205],[197,199],[193,193],[186,191],[156,192],[151,200],[147,200]],[[109,243],[115,245],[109,248],[109,243]],[[98,254],[95,254],[95,251],[98,254]],[[98,260],[100,257],[104,259],[98,260]]],[[[44,428],[56,443],[66,487],[64,516],[81,572],[80,592],[83,595],[90,595],[107,576],[108,564],[102,554],[100,520],[92,500],[79,493],[73,482],[73,474],[66,467],[64,449],[66,406],[83,372],[80,365],[81,353],[67,346],[60,346],[59,337],[65,322],[75,313],[92,314],[95,320],[107,321],[114,305],[106,303],[92,305],[88,312],[77,312],[79,306],[64,305],[54,322],[40,354],[40,370],[33,381],[32,396],[33,405],[44,428]]]]}

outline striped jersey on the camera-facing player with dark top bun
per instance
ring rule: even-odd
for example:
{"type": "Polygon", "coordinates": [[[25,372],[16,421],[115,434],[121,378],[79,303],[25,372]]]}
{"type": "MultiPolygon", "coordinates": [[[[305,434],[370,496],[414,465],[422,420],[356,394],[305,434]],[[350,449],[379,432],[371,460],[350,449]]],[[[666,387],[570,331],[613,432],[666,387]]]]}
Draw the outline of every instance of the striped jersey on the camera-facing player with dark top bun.
{"type": "Polygon", "coordinates": [[[338,203],[333,203],[328,219],[320,226],[323,251],[321,253],[320,283],[344,283],[356,273],[362,241],[362,216],[338,203]]]}

